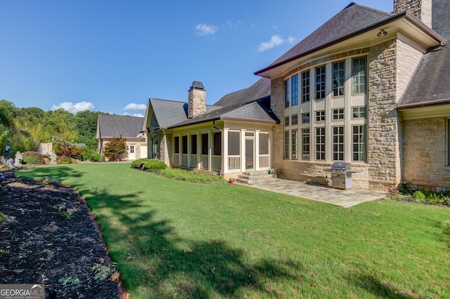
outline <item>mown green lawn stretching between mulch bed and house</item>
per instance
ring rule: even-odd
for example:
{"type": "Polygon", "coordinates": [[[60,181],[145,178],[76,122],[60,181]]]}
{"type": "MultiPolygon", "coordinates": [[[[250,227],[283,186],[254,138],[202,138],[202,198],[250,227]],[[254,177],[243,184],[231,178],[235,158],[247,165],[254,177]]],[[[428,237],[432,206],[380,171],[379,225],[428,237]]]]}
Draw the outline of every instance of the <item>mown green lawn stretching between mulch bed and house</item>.
{"type": "Polygon", "coordinates": [[[450,208],[340,208],[129,164],[25,168],[77,188],[131,298],[450,298],[450,208]]]}

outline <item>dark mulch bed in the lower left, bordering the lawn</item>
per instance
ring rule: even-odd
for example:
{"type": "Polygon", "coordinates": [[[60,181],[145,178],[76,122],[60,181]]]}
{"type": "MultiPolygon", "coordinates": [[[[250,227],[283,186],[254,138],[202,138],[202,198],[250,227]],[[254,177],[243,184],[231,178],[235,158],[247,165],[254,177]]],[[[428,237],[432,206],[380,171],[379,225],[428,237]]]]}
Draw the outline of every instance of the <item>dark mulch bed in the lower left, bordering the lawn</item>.
{"type": "Polygon", "coordinates": [[[0,223],[0,284],[45,284],[46,298],[50,290],[58,298],[122,297],[94,218],[70,187],[6,172],[0,211],[8,218],[0,223]]]}

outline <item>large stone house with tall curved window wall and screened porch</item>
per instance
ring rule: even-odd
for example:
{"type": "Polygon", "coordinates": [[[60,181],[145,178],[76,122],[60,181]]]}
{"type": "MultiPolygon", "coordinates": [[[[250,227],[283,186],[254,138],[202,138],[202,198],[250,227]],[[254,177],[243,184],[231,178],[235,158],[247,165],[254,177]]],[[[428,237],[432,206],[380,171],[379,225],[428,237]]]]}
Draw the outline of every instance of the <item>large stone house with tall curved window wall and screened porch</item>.
{"type": "Polygon", "coordinates": [[[450,190],[447,39],[446,0],[395,0],[393,13],[351,3],[214,106],[195,82],[187,105],[150,99],[149,154],[225,177],[275,168],[326,185],[338,161],[356,171],[355,188],[450,190]]]}

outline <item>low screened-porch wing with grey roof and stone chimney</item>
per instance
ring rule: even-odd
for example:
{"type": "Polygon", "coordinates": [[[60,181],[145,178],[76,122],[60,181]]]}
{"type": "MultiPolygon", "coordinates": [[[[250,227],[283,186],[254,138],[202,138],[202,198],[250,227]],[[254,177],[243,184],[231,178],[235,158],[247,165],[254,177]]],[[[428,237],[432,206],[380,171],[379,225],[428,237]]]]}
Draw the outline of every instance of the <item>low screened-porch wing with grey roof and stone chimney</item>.
{"type": "Polygon", "coordinates": [[[193,81],[188,102],[150,98],[143,121],[150,158],[230,178],[272,167],[273,126],[270,80],[206,104],[203,83],[193,81]]]}

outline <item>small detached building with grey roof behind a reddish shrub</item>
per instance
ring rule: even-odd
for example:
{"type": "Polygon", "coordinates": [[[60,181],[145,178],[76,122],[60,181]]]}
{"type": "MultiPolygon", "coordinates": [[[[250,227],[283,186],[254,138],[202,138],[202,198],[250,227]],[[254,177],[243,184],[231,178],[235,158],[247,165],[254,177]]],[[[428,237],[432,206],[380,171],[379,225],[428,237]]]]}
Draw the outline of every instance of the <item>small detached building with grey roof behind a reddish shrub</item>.
{"type": "Polygon", "coordinates": [[[124,160],[147,157],[147,136],[141,133],[143,117],[129,117],[110,114],[98,114],[97,135],[98,154],[103,154],[105,144],[111,139],[122,136],[127,143],[124,160]]]}

